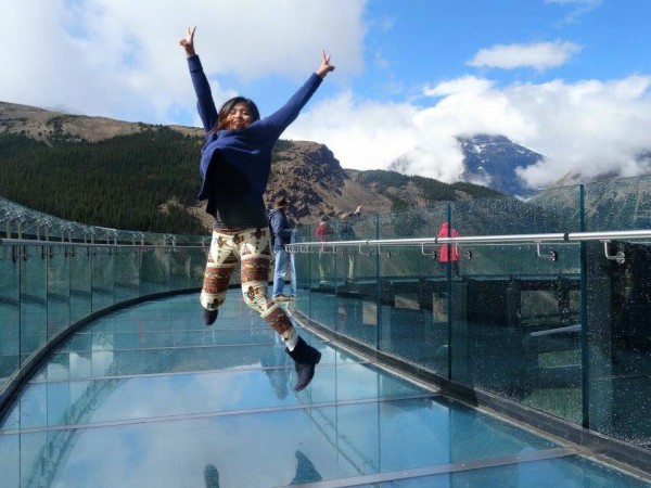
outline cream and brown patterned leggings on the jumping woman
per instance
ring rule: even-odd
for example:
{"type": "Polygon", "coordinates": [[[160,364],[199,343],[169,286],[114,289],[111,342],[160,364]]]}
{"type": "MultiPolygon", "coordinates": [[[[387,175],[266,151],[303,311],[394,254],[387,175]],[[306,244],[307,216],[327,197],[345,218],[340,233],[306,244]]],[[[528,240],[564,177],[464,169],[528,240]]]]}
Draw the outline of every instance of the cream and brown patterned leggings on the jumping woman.
{"type": "Polygon", "coordinates": [[[267,297],[270,248],[268,230],[215,229],[201,291],[201,305],[215,310],[226,298],[233,269],[240,262],[244,301],[278,332],[283,341],[296,331],[284,310],[267,297]]]}

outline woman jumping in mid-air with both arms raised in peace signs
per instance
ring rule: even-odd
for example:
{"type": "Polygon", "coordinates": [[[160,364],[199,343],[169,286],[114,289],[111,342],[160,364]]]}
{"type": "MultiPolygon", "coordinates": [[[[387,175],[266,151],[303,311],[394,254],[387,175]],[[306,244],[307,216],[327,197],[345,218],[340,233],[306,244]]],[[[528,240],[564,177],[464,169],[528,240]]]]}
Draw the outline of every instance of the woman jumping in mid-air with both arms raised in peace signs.
{"type": "Polygon", "coordinates": [[[200,298],[204,321],[210,325],[217,319],[232,271],[240,262],[244,301],[282,337],[286,352],[295,362],[294,389],[298,391],[312,380],[321,354],[298,336],[284,310],[268,297],[270,246],[263,195],[269,180],[273,145],[334,66],[323,52],[316,73],[268,117],[260,118],[255,103],[243,97],[227,101],[217,111],[194,50],[195,28],[189,27],[179,44],[188,57],[206,134],[201,150],[199,198],[207,198],[206,211],[215,218],[200,298]]]}

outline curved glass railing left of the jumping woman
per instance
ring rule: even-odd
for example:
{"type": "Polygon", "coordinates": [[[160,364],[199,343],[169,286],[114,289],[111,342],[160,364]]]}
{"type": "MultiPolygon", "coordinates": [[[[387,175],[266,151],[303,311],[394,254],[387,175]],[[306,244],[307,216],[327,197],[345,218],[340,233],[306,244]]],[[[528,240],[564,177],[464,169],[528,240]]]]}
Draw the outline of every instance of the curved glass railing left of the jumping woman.
{"type": "Polygon", "coordinates": [[[209,235],[117,231],[0,198],[0,400],[46,344],[114,305],[201,286],[209,235]]]}

